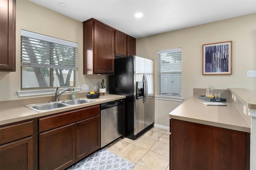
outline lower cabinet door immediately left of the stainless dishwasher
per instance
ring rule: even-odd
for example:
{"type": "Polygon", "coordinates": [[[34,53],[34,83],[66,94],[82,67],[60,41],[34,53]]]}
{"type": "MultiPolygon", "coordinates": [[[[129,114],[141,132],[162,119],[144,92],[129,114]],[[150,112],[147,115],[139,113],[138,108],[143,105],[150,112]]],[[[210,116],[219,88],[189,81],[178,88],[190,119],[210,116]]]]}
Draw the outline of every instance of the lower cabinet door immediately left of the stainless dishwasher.
{"type": "Polygon", "coordinates": [[[100,115],[76,123],[76,160],[100,149],[100,115]]]}

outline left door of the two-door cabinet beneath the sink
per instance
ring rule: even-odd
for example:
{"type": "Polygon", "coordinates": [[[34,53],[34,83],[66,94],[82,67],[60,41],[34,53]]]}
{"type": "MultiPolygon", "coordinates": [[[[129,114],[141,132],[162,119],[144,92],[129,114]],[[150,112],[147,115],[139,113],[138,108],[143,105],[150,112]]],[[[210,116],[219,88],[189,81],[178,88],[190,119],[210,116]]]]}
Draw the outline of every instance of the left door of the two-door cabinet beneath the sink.
{"type": "Polygon", "coordinates": [[[76,162],[76,125],[39,134],[40,170],[63,170],[76,162]]]}

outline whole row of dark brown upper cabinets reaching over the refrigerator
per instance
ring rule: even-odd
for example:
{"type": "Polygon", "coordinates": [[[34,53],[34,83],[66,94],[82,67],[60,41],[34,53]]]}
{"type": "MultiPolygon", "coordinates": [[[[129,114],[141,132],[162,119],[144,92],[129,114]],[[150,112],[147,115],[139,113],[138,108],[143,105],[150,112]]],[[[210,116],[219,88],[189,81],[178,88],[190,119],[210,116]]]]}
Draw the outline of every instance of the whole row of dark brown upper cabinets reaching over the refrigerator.
{"type": "Polygon", "coordinates": [[[136,39],[94,18],[83,22],[84,74],[114,74],[114,55],[136,54],[136,39]]]}

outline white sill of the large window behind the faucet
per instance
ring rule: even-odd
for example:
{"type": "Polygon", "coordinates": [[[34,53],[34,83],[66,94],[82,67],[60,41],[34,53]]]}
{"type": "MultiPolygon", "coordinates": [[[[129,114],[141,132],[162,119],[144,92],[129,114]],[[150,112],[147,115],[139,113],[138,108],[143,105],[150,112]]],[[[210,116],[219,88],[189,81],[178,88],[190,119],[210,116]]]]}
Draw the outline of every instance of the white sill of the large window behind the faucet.
{"type": "MultiPolygon", "coordinates": [[[[62,92],[66,88],[59,88],[59,92],[62,92]]],[[[55,94],[54,89],[42,89],[42,90],[22,90],[22,91],[17,91],[17,94],[19,97],[26,97],[26,96],[38,96],[38,95],[46,95],[46,94],[55,94]]],[[[75,92],[79,92],[81,90],[80,87],[74,88],[75,92]]],[[[66,93],[66,92],[64,92],[66,93]]]]}

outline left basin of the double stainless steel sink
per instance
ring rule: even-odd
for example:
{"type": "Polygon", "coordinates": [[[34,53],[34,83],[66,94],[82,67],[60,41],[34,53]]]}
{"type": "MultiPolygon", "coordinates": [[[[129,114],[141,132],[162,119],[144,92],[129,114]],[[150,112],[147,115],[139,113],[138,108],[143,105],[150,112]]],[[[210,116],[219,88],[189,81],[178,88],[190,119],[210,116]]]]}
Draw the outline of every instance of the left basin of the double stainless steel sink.
{"type": "Polygon", "coordinates": [[[42,104],[32,104],[32,105],[26,105],[26,107],[34,110],[34,111],[46,111],[46,110],[52,110],[52,109],[58,109],[61,107],[67,107],[67,104],[63,104],[60,102],[49,102],[49,103],[42,103],[42,104]]]}

